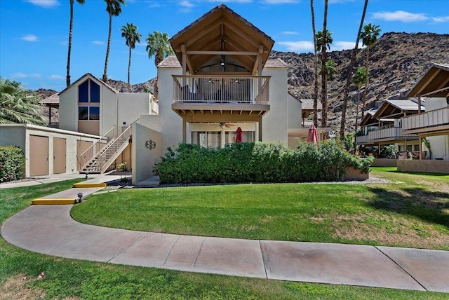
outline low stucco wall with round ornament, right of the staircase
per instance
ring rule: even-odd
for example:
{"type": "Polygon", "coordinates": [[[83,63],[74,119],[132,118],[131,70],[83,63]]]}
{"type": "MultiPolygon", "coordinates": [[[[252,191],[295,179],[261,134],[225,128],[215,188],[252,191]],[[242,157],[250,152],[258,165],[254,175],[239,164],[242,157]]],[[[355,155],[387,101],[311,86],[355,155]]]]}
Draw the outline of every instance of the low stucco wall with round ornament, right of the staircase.
{"type": "Polygon", "coordinates": [[[133,124],[133,184],[141,182],[153,175],[152,170],[154,163],[159,161],[161,157],[162,135],[160,132],[156,132],[143,125],[133,124]],[[149,149],[145,146],[147,141],[154,142],[156,147],[149,149]]]}

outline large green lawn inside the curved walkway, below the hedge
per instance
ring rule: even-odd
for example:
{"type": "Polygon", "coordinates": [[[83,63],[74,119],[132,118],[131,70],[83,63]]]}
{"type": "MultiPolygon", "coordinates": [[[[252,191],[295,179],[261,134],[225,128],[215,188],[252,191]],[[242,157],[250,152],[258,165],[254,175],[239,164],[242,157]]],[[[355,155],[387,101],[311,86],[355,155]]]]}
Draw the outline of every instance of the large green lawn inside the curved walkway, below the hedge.
{"type": "Polygon", "coordinates": [[[121,189],[72,210],[88,224],[197,236],[449,250],[449,176],[376,168],[387,184],[121,189]]]}

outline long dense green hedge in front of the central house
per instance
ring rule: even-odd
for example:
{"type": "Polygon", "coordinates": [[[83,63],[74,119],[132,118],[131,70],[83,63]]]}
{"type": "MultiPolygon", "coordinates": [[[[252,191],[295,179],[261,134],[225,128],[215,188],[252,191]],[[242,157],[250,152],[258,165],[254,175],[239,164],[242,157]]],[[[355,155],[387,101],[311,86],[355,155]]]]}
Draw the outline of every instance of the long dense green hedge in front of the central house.
{"type": "Polygon", "coordinates": [[[162,184],[340,181],[347,168],[369,172],[373,158],[360,160],[334,141],[299,144],[244,142],[223,148],[178,144],[167,149],[156,172],[162,184]]]}

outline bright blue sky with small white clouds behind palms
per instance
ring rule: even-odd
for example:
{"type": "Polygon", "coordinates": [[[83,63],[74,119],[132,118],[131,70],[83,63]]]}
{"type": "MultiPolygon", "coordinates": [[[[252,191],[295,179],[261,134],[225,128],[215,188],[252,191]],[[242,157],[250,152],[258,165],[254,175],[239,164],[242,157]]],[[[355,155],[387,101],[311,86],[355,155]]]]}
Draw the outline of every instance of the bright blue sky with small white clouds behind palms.
{"type": "MultiPolygon", "coordinates": [[[[109,79],[127,81],[128,48],[120,28],[138,26],[142,43],[133,50],[131,83],[156,76],[148,59],[145,38],[158,30],[173,36],[220,3],[226,4],[276,41],[274,50],[307,53],[313,50],[309,0],[127,0],[112,20],[109,79]]],[[[329,0],[331,50],[352,48],[363,0],[329,0]]],[[[323,25],[323,0],[315,0],[316,28],[323,25]]],[[[365,23],[384,32],[449,33],[447,0],[370,0],[365,23]]],[[[72,82],[89,72],[101,78],[107,46],[108,15],[103,0],[74,4],[72,82]]],[[[29,89],[65,88],[69,0],[0,0],[0,76],[29,89]]]]}

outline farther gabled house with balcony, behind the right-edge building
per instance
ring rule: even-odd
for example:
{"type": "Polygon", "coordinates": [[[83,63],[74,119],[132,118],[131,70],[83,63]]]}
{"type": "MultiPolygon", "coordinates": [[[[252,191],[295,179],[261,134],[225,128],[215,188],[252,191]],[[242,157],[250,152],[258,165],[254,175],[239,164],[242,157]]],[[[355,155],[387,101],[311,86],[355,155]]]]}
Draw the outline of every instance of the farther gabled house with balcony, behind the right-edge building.
{"type": "Polygon", "coordinates": [[[400,154],[406,151],[418,154],[418,136],[403,133],[402,118],[418,114],[420,109],[425,110],[424,106],[418,107],[415,99],[385,100],[378,109],[366,111],[361,121],[363,135],[356,136],[356,144],[373,146],[379,152],[382,146],[394,144],[400,154]]]}

